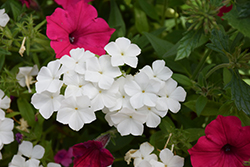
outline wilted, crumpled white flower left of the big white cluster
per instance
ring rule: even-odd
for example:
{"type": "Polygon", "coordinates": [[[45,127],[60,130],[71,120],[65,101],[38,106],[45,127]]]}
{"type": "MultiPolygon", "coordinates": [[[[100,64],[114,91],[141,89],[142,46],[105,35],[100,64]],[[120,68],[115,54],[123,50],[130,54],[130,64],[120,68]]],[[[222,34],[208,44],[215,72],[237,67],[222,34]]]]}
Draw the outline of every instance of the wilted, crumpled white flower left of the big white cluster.
{"type": "Polygon", "coordinates": [[[16,79],[18,80],[18,83],[25,87],[27,86],[29,93],[31,93],[30,85],[35,83],[35,81],[32,81],[33,76],[38,74],[38,68],[37,65],[34,65],[33,67],[19,67],[19,72],[16,76],[16,79]]]}

